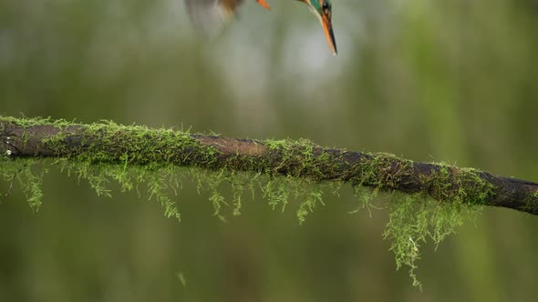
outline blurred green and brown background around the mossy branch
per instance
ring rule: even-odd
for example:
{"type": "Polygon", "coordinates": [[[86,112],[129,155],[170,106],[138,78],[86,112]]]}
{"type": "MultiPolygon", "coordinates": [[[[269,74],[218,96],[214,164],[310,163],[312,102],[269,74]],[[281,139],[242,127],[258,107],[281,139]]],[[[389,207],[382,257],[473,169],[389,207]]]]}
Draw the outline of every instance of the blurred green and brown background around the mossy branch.
{"type": "MultiPolygon", "coordinates": [[[[245,1],[207,40],[181,0],[1,1],[0,114],[305,137],[538,181],[536,1],[334,0],[336,57],[305,5],[270,4],[245,1]]],[[[222,223],[190,182],[181,223],[54,169],[44,192],[37,214],[20,190],[0,200],[0,301],[538,296],[538,218],[509,209],[423,247],[420,292],[381,239],[386,210],[348,214],[348,187],[303,226],[261,194],[222,223]]]]}

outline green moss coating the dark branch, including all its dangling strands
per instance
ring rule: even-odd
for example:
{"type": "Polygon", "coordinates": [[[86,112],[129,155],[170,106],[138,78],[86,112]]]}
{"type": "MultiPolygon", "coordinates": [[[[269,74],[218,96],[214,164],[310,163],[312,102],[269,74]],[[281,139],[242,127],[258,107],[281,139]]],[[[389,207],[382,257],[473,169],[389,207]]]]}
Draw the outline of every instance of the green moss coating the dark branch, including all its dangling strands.
{"type": "MultiPolygon", "coordinates": [[[[419,247],[428,240],[437,247],[466,216],[477,213],[480,209],[477,205],[484,204],[494,189],[481,179],[480,171],[441,164],[430,175],[419,179],[422,192],[402,195],[394,190],[402,179],[412,176],[414,163],[391,154],[365,154],[346,164],[342,160],[346,153],[326,152],[305,139],[286,139],[260,142],[269,153],[270,159],[266,161],[239,154],[222,161],[216,148],[202,146],[188,131],[150,130],[145,126],[119,126],[107,121],[85,127],[78,137],[69,137],[81,141],[76,152],[72,149],[67,152],[68,129],[77,125],[64,120],[0,118],[21,126],[51,125],[67,130],[42,141],[60,159],[14,160],[8,155],[0,156],[5,181],[10,186],[17,181],[34,210],[41,205],[41,181],[50,166],[88,181],[99,196],[111,196],[109,183],[117,182],[121,191],[135,190],[140,196],[160,203],[165,216],[177,219],[181,215],[174,196],[178,195],[185,178],[197,183],[199,192],[210,193],[213,215],[222,220],[226,216],[223,208],[231,208],[233,216],[240,215],[245,192],[254,196],[259,188],[273,209],[284,211],[292,201],[297,201],[294,207],[299,223],[304,223],[317,206],[324,205],[324,192],[337,195],[345,180],[353,185],[357,210],[388,208],[389,221],[383,237],[392,242],[390,250],[395,253],[397,267],[409,267],[415,286],[420,286],[415,275],[419,247]],[[176,166],[178,162],[189,167],[176,166]],[[232,189],[231,200],[222,194],[225,186],[232,189]],[[379,199],[380,195],[390,198],[379,199]],[[386,203],[374,206],[377,200],[386,203]]],[[[538,196],[533,198],[536,200],[538,196]]]]}

